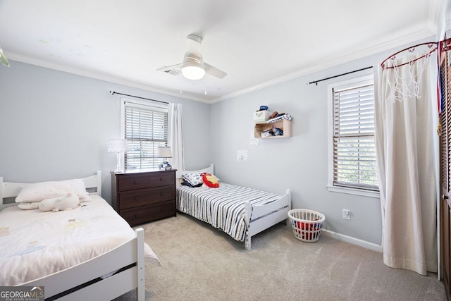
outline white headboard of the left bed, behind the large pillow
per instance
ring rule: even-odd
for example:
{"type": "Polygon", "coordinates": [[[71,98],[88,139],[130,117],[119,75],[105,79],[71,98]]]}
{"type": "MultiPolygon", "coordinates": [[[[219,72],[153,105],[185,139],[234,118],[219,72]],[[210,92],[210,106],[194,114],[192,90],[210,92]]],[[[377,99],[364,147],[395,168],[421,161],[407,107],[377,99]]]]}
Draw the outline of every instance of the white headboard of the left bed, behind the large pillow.
{"type": "MultiPolygon", "coordinates": [[[[101,195],[101,171],[97,171],[95,175],[81,178],[85,183],[86,189],[91,195],[101,195]],[[92,191],[94,190],[94,191],[92,191]]],[[[7,197],[17,197],[20,189],[30,183],[13,183],[4,182],[3,177],[0,177],[0,210],[7,206],[12,206],[14,204],[4,204],[4,199],[7,197]]]]}

